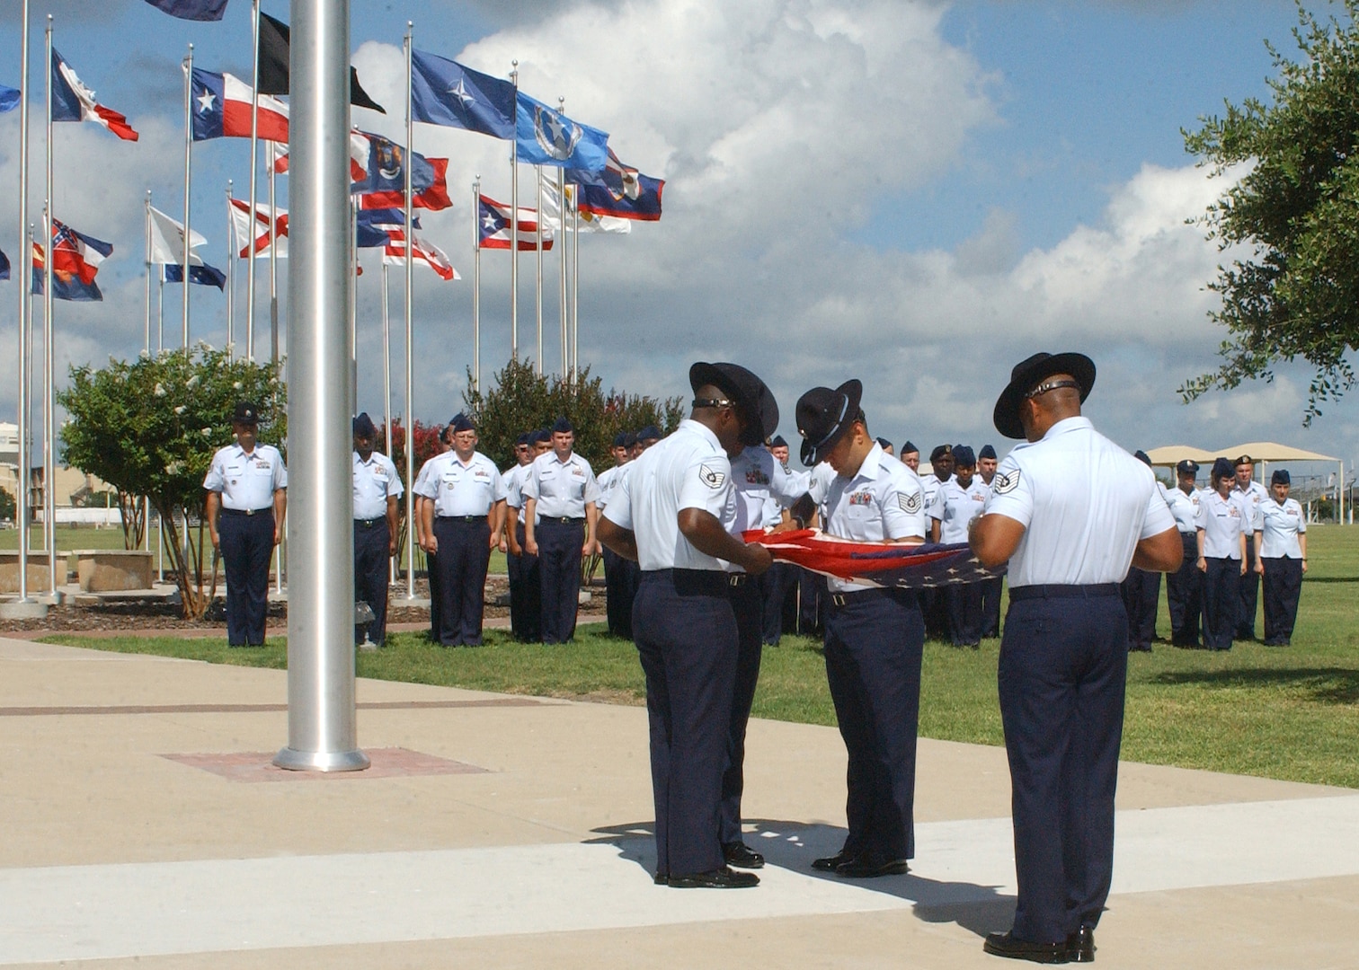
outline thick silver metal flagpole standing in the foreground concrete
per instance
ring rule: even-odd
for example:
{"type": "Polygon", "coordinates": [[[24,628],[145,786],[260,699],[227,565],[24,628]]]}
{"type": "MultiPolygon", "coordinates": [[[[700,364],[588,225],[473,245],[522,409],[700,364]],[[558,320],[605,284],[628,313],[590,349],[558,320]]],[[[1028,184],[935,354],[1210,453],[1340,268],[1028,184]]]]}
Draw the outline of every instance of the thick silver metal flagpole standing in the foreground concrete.
{"type": "Polygon", "coordinates": [[[288,746],[273,764],[342,772],[359,750],[353,683],[349,318],[349,1],[292,0],[288,254],[288,746]]]}

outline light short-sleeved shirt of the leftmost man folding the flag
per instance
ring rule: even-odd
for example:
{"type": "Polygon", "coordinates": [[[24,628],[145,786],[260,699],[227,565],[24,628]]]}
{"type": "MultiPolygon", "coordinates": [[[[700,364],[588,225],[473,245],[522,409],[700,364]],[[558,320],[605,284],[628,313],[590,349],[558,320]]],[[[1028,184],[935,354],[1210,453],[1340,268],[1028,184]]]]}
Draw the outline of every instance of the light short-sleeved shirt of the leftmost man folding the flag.
{"type": "Polygon", "coordinates": [[[654,569],[726,571],[680,531],[680,512],[700,508],[719,520],[731,501],[731,463],[709,428],[684,420],[632,462],[605,518],[637,541],[637,564],[654,569]]]}

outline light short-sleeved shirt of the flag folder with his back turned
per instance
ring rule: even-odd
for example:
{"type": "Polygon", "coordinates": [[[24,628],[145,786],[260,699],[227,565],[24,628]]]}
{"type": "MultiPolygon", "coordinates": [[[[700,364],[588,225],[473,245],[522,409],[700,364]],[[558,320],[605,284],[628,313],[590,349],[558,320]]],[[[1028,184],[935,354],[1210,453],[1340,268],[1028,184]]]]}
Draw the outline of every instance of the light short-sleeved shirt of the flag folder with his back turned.
{"type": "Polygon", "coordinates": [[[1176,527],[1151,469],[1084,417],[1017,444],[991,481],[985,515],[1025,527],[1011,588],[1121,583],[1137,542],[1176,527]]]}

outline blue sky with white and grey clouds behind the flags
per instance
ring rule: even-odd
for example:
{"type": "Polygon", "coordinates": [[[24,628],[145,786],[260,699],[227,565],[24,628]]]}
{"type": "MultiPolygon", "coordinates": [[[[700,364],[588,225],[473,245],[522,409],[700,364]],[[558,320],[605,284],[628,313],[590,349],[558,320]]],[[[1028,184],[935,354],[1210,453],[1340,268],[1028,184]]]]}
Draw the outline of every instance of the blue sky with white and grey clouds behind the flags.
{"type": "MultiPolygon", "coordinates": [[[[11,86],[18,7],[0,7],[0,83],[11,86]]],[[[174,20],[143,0],[33,8],[35,86],[52,12],[57,49],[141,132],[129,144],[94,125],[57,126],[54,211],[116,246],[99,274],[105,303],[58,304],[64,371],[141,348],[145,190],[182,212],[179,60],[192,41],[197,67],[247,77],[249,3],[232,0],[219,24],[174,20]]],[[[284,0],[264,10],[288,18],[284,0]]],[[[1195,167],[1180,129],[1224,98],[1267,94],[1263,39],[1291,43],[1291,0],[355,0],[352,11],[353,61],[389,107],[355,109],[356,125],[401,136],[410,19],[420,50],[497,75],[516,58],[525,91],[564,95],[567,113],[610,132],[625,162],[667,181],[662,221],[580,243],[580,357],[606,386],[682,394],[692,360],[735,360],[773,387],[791,439],[796,397],[853,376],[875,433],[927,450],[1003,448],[991,408],[1011,365],[1079,349],[1099,368],[1087,412],[1128,448],[1273,439],[1359,456],[1359,394],[1302,428],[1306,367],[1192,405],[1176,394],[1214,367],[1223,338],[1204,289],[1220,257],[1185,224],[1223,185],[1195,167]]],[[[42,144],[39,122],[33,212],[42,144]]],[[[463,276],[440,283],[417,269],[414,412],[436,420],[458,410],[470,363],[472,181],[480,174],[488,194],[507,198],[511,174],[506,143],[482,136],[417,125],[414,147],[450,158],[455,206],[424,224],[463,276]]],[[[230,178],[246,194],[247,143],[200,143],[193,167],[193,226],[223,265],[224,193],[230,178]]],[[[527,198],[530,170],[520,179],[527,198]]],[[[0,249],[12,259],[18,111],[0,117],[0,249]]],[[[376,269],[372,253],[364,264],[376,269]]],[[[520,266],[520,346],[533,353],[533,261],[520,266]]],[[[556,272],[549,254],[548,279],[556,272]]],[[[366,273],[359,304],[359,398],[374,414],[378,277],[366,273]]],[[[223,342],[224,299],[193,291],[193,337],[223,342]]],[[[484,255],[481,296],[489,374],[510,353],[507,254],[484,255]]],[[[394,321],[401,298],[394,273],[394,321]]],[[[179,340],[179,299],[167,288],[167,345],[179,340]]],[[[557,312],[549,287],[548,370],[560,367],[557,312]]],[[[16,315],[14,284],[0,284],[5,420],[16,315]]],[[[266,329],[261,303],[265,348],[266,329]]],[[[394,352],[400,361],[400,340],[394,352]]],[[[397,365],[397,412],[404,393],[397,365]]]]}

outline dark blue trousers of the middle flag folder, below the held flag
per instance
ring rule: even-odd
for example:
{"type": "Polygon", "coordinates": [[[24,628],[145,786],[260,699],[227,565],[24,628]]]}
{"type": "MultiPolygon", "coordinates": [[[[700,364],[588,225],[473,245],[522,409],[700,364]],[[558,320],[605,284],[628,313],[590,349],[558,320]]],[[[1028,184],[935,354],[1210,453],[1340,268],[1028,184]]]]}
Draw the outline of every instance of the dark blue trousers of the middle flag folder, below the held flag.
{"type": "Polygon", "coordinates": [[[843,852],[887,863],[916,855],[916,728],[924,619],[916,594],[828,594],[826,681],[849,768],[843,852]]]}

